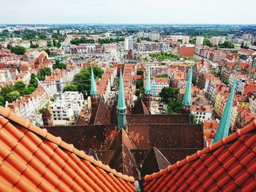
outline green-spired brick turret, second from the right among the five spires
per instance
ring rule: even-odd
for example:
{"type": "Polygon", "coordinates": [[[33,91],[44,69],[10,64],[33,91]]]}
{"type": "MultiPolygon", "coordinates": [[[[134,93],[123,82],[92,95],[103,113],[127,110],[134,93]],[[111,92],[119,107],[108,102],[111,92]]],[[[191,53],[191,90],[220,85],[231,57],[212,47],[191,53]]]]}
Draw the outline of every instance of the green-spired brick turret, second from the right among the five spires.
{"type": "Polygon", "coordinates": [[[191,99],[192,74],[193,74],[193,66],[191,66],[189,70],[189,78],[187,80],[186,91],[182,99],[182,106],[181,106],[182,114],[190,114],[190,108],[192,105],[192,99],[191,99]]]}

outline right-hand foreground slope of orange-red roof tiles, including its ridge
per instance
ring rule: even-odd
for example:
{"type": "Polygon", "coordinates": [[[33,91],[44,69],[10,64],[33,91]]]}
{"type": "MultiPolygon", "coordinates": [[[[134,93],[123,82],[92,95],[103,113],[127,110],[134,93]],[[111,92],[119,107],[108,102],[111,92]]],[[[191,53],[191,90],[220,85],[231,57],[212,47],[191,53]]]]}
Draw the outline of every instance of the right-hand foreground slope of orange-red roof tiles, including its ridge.
{"type": "Polygon", "coordinates": [[[144,177],[145,191],[255,191],[256,121],[144,177]]]}

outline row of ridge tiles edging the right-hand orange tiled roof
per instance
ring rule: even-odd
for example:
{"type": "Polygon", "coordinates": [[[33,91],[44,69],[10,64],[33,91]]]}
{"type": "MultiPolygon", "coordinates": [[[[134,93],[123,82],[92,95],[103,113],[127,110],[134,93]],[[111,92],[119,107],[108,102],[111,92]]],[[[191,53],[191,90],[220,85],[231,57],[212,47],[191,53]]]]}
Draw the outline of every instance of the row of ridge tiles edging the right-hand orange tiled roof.
{"type": "Polygon", "coordinates": [[[232,142],[234,139],[237,139],[238,137],[241,137],[244,134],[249,133],[252,130],[256,129],[256,120],[253,121],[253,123],[250,123],[249,125],[245,126],[244,128],[239,128],[236,130],[234,134],[231,134],[227,137],[222,137],[221,140],[218,142],[209,145],[209,147],[204,148],[203,150],[197,150],[197,153],[194,153],[192,155],[187,155],[186,158],[182,159],[181,161],[177,161],[176,164],[167,166],[165,169],[161,169],[159,172],[155,172],[153,174],[146,175],[143,177],[143,180],[153,180],[157,177],[162,176],[163,174],[166,174],[167,172],[171,172],[174,169],[177,169],[178,167],[184,166],[185,164],[194,161],[197,158],[200,158],[200,156],[205,155],[206,153],[209,153],[213,150],[216,150],[217,148],[221,147],[222,145],[225,145],[229,142],[232,142]]]}

